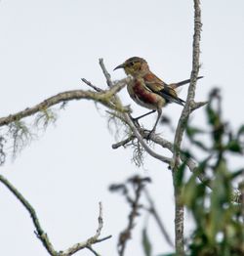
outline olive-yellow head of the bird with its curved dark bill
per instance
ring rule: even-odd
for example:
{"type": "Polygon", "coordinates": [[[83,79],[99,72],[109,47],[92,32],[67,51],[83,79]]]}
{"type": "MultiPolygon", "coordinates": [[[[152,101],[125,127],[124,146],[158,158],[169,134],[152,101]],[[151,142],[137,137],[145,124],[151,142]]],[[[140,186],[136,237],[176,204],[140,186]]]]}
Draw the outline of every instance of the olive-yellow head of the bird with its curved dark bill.
{"type": "Polygon", "coordinates": [[[148,70],[148,64],[140,57],[132,57],[126,60],[123,64],[119,64],[113,70],[124,68],[126,74],[138,76],[148,70]]]}

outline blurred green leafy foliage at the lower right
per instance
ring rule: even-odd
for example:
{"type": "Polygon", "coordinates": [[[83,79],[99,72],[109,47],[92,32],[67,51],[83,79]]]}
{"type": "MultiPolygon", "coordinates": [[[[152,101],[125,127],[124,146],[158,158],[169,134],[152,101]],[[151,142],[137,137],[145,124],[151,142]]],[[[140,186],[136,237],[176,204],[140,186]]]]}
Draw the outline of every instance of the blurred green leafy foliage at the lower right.
{"type": "Polygon", "coordinates": [[[195,222],[187,245],[189,255],[244,255],[243,205],[232,201],[234,183],[244,169],[232,170],[228,166],[229,155],[243,157],[244,129],[241,126],[236,133],[230,130],[223,120],[221,101],[220,92],[215,89],[206,108],[210,147],[206,140],[196,139],[206,132],[187,127],[190,142],[207,154],[187,181],[180,179],[183,203],[195,222]],[[199,174],[207,177],[205,184],[199,182],[199,174]]]}

